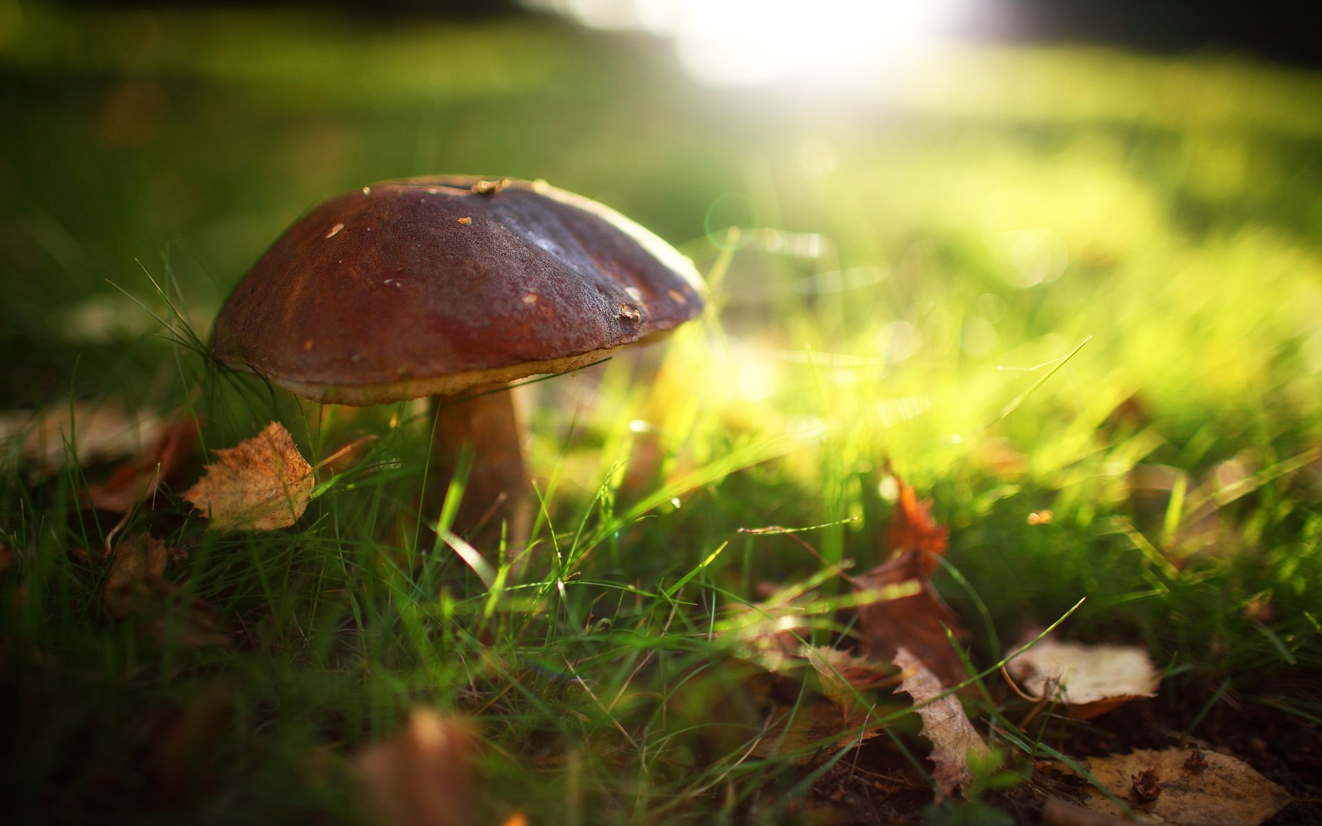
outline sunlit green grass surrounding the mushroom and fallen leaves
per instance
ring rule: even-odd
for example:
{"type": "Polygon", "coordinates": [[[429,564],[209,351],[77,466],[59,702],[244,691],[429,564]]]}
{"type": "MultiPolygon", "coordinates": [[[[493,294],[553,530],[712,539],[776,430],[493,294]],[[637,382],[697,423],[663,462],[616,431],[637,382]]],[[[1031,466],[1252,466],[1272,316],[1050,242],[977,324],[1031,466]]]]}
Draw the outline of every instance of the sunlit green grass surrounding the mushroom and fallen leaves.
{"type": "MultiPolygon", "coordinates": [[[[1081,731],[1018,730],[1023,703],[984,681],[970,710],[1010,732],[994,744],[1015,777],[1027,751],[1132,741],[1133,720],[1227,741],[1243,708],[1322,718],[1317,77],[964,49],[951,74],[809,102],[702,91],[657,50],[546,21],[24,3],[19,25],[0,26],[0,406],[196,415],[205,448],[276,419],[313,460],[381,439],[292,529],[208,533],[177,500],[122,529],[186,548],[168,578],[219,608],[227,649],[107,619],[115,519],[77,502],[108,467],[42,478],[4,448],[9,807],[361,821],[352,755],[430,704],[477,722],[480,822],[809,818],[855,757],[746,757],[750,669],[711,636],[761,583],[846,593],[788,538],[736,531],[825,525],[800,538],[867,568],[887,460],[952,527],[937,587],[974,669],[1087,596],[1068,637],[1146,644],[1169,674],[1145,711],[1081,731]],[[711,313],[668,344],[521,391],[541,551],[497,591],[420,530],[419,406],[323,410],[189,346],[312,204],[426,172],[546,177],[713,282],[711,313]],[[1136,488],[1151,468],[1182,504],[1136,488]],[[1248,616],[1255,597],[1273,615],[1248,616]]],[[[851,630],[822,625],[820,644],[851,630]]],[[[859,765],[921,784],[916,724],[873,699],[894,728],[859,765]]],[[[984,800],[1031,821],[1030,788],[984,800]]]]}

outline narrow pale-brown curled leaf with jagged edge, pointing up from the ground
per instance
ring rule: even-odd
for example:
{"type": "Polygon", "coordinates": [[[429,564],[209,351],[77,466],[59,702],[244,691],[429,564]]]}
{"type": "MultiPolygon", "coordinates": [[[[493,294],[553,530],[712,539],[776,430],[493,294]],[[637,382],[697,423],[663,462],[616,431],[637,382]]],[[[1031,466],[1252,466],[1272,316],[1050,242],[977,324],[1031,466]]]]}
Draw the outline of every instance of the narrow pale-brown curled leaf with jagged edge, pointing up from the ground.
{"type": "Polygon", "coordinates": [[[895,652],[895,665],[903,669],[904,679],[898,691],[906,691],[920,706],[917,715],[923,718],[923,735],[932,741],[932,763],[936,764],[936,797],[949,797],[954,790],[972,780],[969,755],[986,757],[990,751],[982,736],[973,728],[964,706],[954,695],[932,698],[948,690],[927,666],[900,646],[895,652]],[[927,703],[923,706],[923,703],[927,703]]]}

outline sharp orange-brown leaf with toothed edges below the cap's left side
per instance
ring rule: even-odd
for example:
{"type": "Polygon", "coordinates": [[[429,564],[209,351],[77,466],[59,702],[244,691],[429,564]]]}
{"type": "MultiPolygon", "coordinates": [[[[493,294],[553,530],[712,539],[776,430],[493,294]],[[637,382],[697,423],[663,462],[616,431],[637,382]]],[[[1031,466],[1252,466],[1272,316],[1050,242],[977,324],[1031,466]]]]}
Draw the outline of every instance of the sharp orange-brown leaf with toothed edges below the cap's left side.
{"type": "Polygon", "coordinates": [[[312,496],[312,465],[279,422],[215,451],[217,461],[184,493],[213,530],[276,530],[297,522],[312,496]]]}

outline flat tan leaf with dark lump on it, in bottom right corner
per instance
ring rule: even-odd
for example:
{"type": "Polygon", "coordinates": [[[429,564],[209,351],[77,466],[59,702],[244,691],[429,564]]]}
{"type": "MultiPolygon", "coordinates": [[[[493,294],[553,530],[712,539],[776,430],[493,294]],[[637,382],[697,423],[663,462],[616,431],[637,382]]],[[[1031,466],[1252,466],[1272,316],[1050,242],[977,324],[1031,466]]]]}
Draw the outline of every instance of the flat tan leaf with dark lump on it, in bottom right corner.
{"type": "MultiPolygon", "coordinates": [[[[1140,749],[1129,755],[1095,757],[1088,772],[1112,794],[1129,804],[1147,823],[1171,826],[1257,826],[1285,807],[1290,796],[1244,763],[1206,752],[1204,768],[1190,768],[1190,752],[1140,749]],[[1134,778],[1153,772],[1161,777],[1161,793],[1145,801],[1134,790],[1134,778]]],[[[1093,811],[1120,815],[1121,810],[1095,788],[1084,805],[1093,811]]]]}

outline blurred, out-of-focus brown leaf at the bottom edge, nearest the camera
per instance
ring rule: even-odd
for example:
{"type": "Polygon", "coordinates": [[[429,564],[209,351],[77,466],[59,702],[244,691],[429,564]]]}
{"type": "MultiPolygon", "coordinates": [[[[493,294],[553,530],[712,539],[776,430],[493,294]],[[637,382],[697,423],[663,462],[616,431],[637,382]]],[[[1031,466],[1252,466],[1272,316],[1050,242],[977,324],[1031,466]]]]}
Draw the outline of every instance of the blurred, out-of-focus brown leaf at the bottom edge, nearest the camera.
{"type": "Polygon", "coordinates": [[[415,708],[402,732],[358,755],[373,819],[385,826],[467,826],[472,757],[465,723],[415,708]]]}

